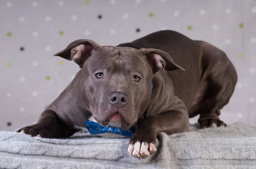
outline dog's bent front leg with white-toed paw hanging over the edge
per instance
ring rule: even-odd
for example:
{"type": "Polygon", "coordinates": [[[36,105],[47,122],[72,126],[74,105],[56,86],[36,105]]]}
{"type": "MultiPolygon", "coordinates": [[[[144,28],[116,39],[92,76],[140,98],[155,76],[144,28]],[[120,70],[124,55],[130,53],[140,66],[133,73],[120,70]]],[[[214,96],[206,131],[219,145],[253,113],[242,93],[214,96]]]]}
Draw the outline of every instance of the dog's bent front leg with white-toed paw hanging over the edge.
{"type": "Polygon", "coordinates": [[[160,132],[171,135],[188,131],[188,113],[170,110],[148,116],[139,123],[138,129],[131,136],[128,152],[136,158],[146,158],[157,151],[157,135],[160,132]]]}

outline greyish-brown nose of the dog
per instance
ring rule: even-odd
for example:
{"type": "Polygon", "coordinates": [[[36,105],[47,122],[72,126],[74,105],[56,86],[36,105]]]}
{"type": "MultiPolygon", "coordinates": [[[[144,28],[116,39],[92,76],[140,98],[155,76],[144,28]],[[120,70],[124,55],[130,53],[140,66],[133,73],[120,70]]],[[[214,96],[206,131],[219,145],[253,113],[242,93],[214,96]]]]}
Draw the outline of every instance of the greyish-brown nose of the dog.
{"type": "Polygon", "coordinates": [[[113,92],[109,96],[109,101],[114,106],[123,106],[128,100],[128,96],[122,92],[113,92]]]}

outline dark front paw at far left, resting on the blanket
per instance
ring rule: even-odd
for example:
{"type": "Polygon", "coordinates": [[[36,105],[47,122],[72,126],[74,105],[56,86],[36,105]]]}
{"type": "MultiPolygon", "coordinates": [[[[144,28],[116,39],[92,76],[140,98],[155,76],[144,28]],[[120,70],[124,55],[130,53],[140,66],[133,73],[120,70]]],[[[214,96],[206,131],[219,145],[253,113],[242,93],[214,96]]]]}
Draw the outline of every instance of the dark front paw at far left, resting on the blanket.
{"type": "Polygon", "coordinates": [[[40,124],[34,124],[31,126],[23,127],[17,132],[23,133],[23,134],[28,134],[32,137],[42,137],[42,138],[47,138],[49,137],[49,132],[42,127],[40,124]]]}

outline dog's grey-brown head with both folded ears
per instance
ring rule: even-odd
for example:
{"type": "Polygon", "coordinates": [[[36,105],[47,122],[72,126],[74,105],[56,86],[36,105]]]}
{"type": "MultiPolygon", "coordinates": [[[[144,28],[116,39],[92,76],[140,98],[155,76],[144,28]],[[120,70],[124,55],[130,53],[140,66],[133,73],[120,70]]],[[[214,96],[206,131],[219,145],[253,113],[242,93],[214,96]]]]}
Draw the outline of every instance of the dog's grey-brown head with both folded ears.
{"type": "Polygon", "coordinates": [[[158,49],[100,46],[87,39],[70,43],[54,56],[73,60],[82,69],[81,98],[96,121],[103,126],[121,122],[124,130],[147,109],[154,74],[183,69],[158,49]]]}

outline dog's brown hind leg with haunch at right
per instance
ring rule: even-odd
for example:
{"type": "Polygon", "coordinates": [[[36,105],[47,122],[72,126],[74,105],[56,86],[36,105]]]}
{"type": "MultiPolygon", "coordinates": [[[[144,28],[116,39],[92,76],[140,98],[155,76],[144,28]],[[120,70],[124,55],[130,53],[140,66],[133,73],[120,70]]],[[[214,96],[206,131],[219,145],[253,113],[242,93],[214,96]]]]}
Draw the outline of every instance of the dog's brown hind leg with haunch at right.
{"type": "Polygon", "coordinates": [[[198,123],[202,128],[227,126],[218,116],[235,90],[236,70],[223,51],[207,42],[201,42],[201,45],[201,86],[205,86],[206,90],[200,101],[198,123]]]}

